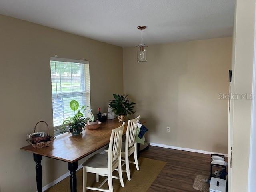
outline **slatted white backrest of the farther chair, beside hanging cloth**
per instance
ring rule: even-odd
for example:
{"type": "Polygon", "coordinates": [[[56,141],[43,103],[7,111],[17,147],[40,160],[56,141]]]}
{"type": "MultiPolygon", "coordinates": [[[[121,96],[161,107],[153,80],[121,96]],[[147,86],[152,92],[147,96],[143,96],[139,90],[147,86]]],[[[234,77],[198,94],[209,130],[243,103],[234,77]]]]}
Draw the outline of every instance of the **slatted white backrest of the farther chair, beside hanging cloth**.
{"type": "Polygon", "coordinates": [[[125,147],[129,148],[134,145],[136,131],[137,131],[137,123],[140,121],[140,116],[135,119],[128,120],[127,130],[126,130],[126,138],[125,138],[125,147]]]}

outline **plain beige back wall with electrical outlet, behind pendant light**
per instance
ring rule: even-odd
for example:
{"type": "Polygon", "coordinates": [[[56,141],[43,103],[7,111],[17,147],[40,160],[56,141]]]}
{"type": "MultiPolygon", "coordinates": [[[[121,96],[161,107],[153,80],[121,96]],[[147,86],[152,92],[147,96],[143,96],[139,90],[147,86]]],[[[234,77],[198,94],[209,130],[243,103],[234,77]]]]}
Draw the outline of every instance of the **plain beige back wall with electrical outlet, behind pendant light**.
{"type": "Polygon", "coordinates": [[[137,63],[136,48],[124,48],[124,93],[148,120],[149,142],[227,154],[228,100],[218,93],[228,93],[231,50],[232,38],[151,45],[137,63]]]}

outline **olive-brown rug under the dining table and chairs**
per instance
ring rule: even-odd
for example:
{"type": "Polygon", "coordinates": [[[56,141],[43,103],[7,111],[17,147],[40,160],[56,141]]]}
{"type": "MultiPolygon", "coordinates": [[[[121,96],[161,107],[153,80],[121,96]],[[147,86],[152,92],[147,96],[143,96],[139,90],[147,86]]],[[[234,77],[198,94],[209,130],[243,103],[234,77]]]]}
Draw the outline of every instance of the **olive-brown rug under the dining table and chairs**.
{"type": "MultiPolygon", "coordinates": [[[[150,185],[154,182],[166,162],[153,160],[149,158],[139,158],[140,170],[137,171],[134,164],[130,164],[131,181],[127,180],[126,173],[123,172],[124,188],[121,187],[120,180],[113,179],[114,192],[146,192],[150,185]]],[[[125,166],[122,167],[125,170],[125,166]]],[[[118,176],[118,172],[114,171],[113,175],[118,176]]],[[[78,170],[77,174],[77,191],[82,192],[82,169],[78,170]]],[[[104,180],[104,176],[100,176],[100,182],[104,180]]],[[[87,174],[87,186],[97,187],[96,174],[87,174]]],[[[108,182],[102,188],[108,189],[108,182]]],[[[87,190],[92,192],[92,190],[87,190]]],[[[46,192],[70,192],[70,178],[67,177],[58,184],[52,186],[46,192]]]]}

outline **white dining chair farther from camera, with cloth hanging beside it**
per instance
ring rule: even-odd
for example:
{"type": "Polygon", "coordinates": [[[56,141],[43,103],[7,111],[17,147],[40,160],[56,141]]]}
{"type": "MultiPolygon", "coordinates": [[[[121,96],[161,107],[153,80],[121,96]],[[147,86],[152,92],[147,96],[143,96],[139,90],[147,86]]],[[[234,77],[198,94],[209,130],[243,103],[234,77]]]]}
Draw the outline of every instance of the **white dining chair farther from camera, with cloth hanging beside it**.
{"type": "MultiPolygon", "coordinates": [[[[127,179],[130,181],[131,180],[131,175],[130,175],[130,166],[129,163],[135,164],[136,169],[139,169],[139,164],[138,164],[138,158],[137,158],[137,142],[136,142],[136,132],[137,132],[137,123],[140,122],[140,116],[138,116],[135,119],[130,119],[128,120],[128,125],[127,125],[127,130],[126,130],[126,137],[125,137],[125,142],[122,142],[122,153],[121,156],[122,161],[122,166],[126,166],[126,170],[122,170],[122,172],[126,172],[127,174],[127,179]],[[134,155],[134,162],[129,161],[129,156],[134,155]]],[[[107,149],[105,149],[106,152],[108,152],[107,149]]],[[[116,169],[119,171],[119,168],[116,169]]]]}

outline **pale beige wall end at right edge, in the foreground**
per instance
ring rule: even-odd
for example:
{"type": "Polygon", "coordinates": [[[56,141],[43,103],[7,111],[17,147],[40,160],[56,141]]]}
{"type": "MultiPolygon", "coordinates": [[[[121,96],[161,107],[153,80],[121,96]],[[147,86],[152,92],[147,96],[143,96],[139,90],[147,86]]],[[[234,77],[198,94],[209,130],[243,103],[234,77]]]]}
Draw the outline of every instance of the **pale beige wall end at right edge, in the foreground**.
{"type": "MultiPolygon", "coordinates": [[[[232,93],[252,93],[255,42],[255,0],[237,0],[234,20],[232,93]]],[[[255,77],[254,77],[255,78],[255,77]]],[[[254,94],[255,97],[255,94],[254,94]]],[[[248,191],[252,100],[231,102],[232,177],[230,192],[248,191]]],[[[255,151],[254,151],[255,153],[255,151]]],[[[254,159],[255,164],[255,159],[254,159]]],[[[255,172],[255,171],[254,171],[255,172]]],[[[255,180],[253,181],[255,182],[255,180]]],[[[255,189],[251,189],[255,191],[255,189]]]]}

